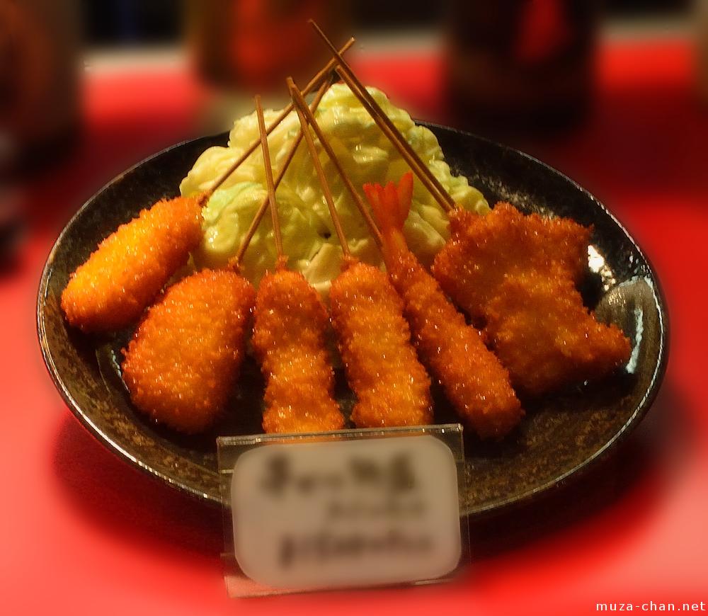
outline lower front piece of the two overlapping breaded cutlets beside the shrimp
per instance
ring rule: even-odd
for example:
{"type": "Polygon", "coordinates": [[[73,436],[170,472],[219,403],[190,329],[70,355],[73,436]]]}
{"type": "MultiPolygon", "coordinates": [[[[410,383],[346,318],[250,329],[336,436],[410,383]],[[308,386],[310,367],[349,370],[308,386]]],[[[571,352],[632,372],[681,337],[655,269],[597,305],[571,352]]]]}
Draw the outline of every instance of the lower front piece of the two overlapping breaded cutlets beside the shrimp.
{"type": "Polygon", "coordinates": [[[570,280],[543,274],[506,278],[486,308],[486,333],[514,387],[542,394],[604,377],[624,364],[629,341],[595,321],[570,280]]]}

